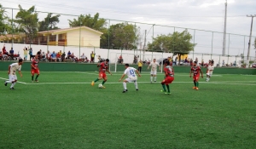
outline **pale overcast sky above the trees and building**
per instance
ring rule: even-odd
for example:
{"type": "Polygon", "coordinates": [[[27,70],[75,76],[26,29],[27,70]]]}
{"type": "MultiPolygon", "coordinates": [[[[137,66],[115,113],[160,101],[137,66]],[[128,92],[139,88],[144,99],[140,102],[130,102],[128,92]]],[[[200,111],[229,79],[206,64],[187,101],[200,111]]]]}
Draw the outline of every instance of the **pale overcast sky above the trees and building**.
{"type": "MultiPolygon", "coordinates": [[[[29,9],[35,5],[37,11],[62,14],[61,22],[57,25],[61,28],[69,27],[67,20],[77,18],[63,14],[94,15],[98,12],[101,18],[110,20],[110,25],[122,22],[118,20],[124,20],[140,26],[142,37],[147,30],[147,43],[152,41],[152,37],[160,34],[172,33],[174,30],[182,32],[185,28],[189,28],[189,32],[195,37],[195,43],[197,43],[196,52],[211,53],[213,50],[213,54],[221,54],[222,51],[223,33],[218,32],[224,32],[225,0],[0,0],[0,3],[4,8],[18,9],[20,4],[23,9],[29,9]],[[175,26],[175,28],[169,26],[175,26]],[[194,31],[194,29],[197,30],[194,31]]],[[[256,1],[227,0],[227,3],[226,31],[231,34],[227,34],[226,54],[247,54],[252,20],[251,17],[247,17],[247,14],[256,14],[256,1]]],[[[6,10],[11,16],[10,9],[6,10]]],[[[17,10],[14,10],[14,17],[16,12],[17,10]]],[[[39,20],[43,20],[45,16],[46,14],[39,13],[39,20]]],[[[252,41],[254,37],[256,37],[256,22],[253,24],[252,41]]],[[[250,55],[255,54],[255,49],[252,48],[250,55]]]]}

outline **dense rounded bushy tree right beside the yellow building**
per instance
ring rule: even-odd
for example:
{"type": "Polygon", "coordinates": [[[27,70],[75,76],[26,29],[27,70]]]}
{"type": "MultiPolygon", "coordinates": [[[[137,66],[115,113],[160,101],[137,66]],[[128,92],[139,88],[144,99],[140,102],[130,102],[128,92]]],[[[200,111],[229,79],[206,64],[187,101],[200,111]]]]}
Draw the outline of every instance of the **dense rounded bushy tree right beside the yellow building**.
{"type": "Polygon", "coordinates": [[[119,23],[109,28],[112,48],[137,49],[137,28],[128,23],[119,23]]]}

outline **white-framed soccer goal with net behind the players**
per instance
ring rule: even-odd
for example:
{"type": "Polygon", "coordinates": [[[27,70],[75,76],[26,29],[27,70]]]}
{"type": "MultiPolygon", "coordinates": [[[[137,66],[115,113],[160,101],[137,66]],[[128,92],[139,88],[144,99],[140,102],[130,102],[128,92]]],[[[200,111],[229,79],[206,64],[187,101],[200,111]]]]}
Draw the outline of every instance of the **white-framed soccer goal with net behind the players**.
{"type": "MultiPolygon", "coordinates": [[[[133,53],[122,52],[122,53],[114,53],[111,55],[112,55],[111,60],[113,61],[110,64],[109,69],[112,72],[123,72],[125,70],[125,67],[124,67],[125,64],[129,64],[130,66],[137,68],[137,63],[139,60],[143,61],[143,72],[146,72],[145,71],[147,69],[146,66],[148,67],[149,63],[152,62],[154,59],[158,63],[164,60],[163,54],[153,54],[153,53],[152,54],[133,54],[133,53]],[[123,59],[122,61],[119,60],[120,55],[122,56],[122,59],[123,59]]],[[[160,65],[161,65],[160,72],[162,72],[163,70],[162,62],[160,63],[160,65]]]]}

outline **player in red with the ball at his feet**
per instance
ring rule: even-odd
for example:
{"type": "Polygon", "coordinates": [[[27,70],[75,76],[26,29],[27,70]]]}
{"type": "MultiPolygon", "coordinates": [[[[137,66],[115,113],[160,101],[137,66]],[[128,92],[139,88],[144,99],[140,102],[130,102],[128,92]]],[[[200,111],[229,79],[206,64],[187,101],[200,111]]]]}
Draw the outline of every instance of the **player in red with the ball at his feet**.
{"type": "Polygon", "coordinates": [[[97,67],[100,66],[99,77],[96,78],[94,81],[92,81],[91,86],[93,86],[94,83],[96,83],[97,81],[99,81],[99,80],[101,80],[101,79],[103,78],[104,80],[103,80],[103,82],[102,82],[102,88],[103,88],[103,89],[105,88],[105,87],[103,86],[103,84],[106,83],[107,80],[108,80],[108,77],[107,77],[107,75],[106,75],[106,72],[108,72],[110,75],[112,75],[112,73],[109,72],[109,70],[108,70],[108,62],[109,62],[109,60],[106,59],[104,62],[99,63],[99,64],[97,65],[97,67]]]}

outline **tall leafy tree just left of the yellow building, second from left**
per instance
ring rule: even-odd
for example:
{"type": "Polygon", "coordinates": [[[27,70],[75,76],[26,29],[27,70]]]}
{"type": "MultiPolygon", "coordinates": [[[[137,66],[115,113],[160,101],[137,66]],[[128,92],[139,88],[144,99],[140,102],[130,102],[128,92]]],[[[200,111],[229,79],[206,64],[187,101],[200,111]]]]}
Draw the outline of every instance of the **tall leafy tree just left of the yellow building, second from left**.
{"type": "Polygon", "coordinates": [[[28,37],[29,42],[32,43],[34,37],[38,33],[38,13],[35,11],[35,6],[30,9],[22,9],[19,4],[20,11],[16,14],[15,22],[18,24],[20,32],[24,32],[28,37]]]}

